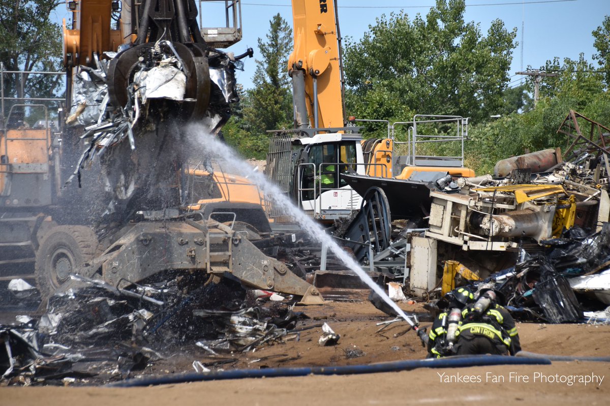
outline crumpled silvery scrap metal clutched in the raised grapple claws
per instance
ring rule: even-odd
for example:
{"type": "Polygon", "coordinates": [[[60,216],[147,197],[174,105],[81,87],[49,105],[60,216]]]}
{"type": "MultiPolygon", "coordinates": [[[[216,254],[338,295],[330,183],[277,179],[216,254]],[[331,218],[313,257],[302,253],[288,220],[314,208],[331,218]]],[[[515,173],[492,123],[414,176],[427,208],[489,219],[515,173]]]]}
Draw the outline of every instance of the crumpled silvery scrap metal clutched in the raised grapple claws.
{"type": "MultiPolygon", "coordinates": [[[[125,52],[129,52],[128,47],[125,52]]],[[[201,101],[194,98],[195,90],[187,88],[187,77],[193,76],[195,72],[188,71],[187,64],[170,41],[159,40],[154,46],[140,50],[142,56],[135,68],[132,67],[134,76],[132,82],[127,84],[126,94],[112,94],[113,90],[109,88],[109,80],[114,79],[113,74],[117,75],[115,71],[121,63],[113,61],[117,57],[124,58],[124,54],[105,52],[107,59],[96,58],[97,68],[80,66],[79,73],[74,75],[73,104],[66,123],[84,127],[81,139],[88,140],[89,145],[74,174],[80,173],[85,160],[101,157],[109,146],[118,144],[125,138],[134,150],[134,127],[137,124],[139,129],[154,127],[162,119],[159,114],[176,115],[171,111],[172,107],[178,107],[178,118],[191,118],[188,113],[195,114],[196,118],[206,117],[213,123],[209,126],[210,133],[217,133],[221,122],[224,123],[227,119],[224,115],[227,114],[229,103],[239,100],[235,93],[234,78],[235,63],[238,62],[233,58],[231,60],[227,54],[217,52],[211,59],[218,66],[210,66],[208,72],[200,71],[197,74],[209,76],[222,97],[212,100],[209,109],[204,105],[203,111],[201,106],[195,106],[201,104],[201,101]],[[124,104],[123,99],[126,99],[124,104]],[[181,103],[162,105],[163,99],[181,103]],[[199,111],[194,112],[194,108],[199,111]]],[[[110,85],[112,87],[115,84],[110,85]]]]}

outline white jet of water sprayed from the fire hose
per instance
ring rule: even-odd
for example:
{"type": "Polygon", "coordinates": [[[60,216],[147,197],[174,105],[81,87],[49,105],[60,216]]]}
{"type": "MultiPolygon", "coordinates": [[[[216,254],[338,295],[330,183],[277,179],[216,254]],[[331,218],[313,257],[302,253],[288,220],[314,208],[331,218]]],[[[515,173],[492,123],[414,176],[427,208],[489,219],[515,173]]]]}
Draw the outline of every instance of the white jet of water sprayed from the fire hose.
{"type": "MultiPolygon", "coordinates": [[[[193,145],[193,150],[201,148],[202,158],[207,158],[211,162],[220,164],[223,170],[235,175],[247,177],[252,183],[259,187],[264,194],[265,199],[282,207],[287,215],[292,216],[303,230],[314,238],[320,244],[327,246],[339,258],[347,268],[355,272],[357,276],[364,281],[368,287],[374,290],[381,298],[392,307],[398,315],[411,324],[411,319],[398,307],[398,305],[390,299],[384,289],[371,279],[370,276],[362,269],[362,267],[351,257],[347,252],[326,233],[320,224],[316,223],[312,218],[307,216],[300,208],[286,196],[282,191],[274,185],[264,174],[254,171],[253,167],[242,160],[242,158],[230,146],[218,140],[217,137],[207,133],[206,127],[200,124],[190,124],[185,129],[185,134],[193,145]]],[[[199,152],[199,151],[197,151],[199,152]]]]}

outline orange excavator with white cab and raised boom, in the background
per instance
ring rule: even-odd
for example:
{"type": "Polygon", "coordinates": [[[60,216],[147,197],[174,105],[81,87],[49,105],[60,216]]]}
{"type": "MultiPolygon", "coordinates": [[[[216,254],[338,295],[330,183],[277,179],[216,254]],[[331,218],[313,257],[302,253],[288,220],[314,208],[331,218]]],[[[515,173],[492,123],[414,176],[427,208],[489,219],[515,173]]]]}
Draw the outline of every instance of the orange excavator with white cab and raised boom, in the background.
{"type": "Polygon", "coordinates": [[[450,141],[462,143],[463,155],[467,119],[415,116],[410,123],[412,138],[406,157],[394,153],[393,137],[365,140],[357,134],[360,127],[347,126],[336,1],[293,0],[292,13],[294,48],[288,72],[292,77],[295,128],[272,138],[267,174],[303,210],[321,221],[334,221],[361,208],[367,190],[378,187],[385,191],[393,217],[421,217],[422,203],[425,206],[427,202],[429,207],[431,185],[420,178],[438,179],[443,173],[474,176],[472,170],[463,167],[463,156],[417,153],[425,143],[450,141]],[[431,122],[454,124],[456,136],[443,140],[417,133],[418,128],[431,122]]]}

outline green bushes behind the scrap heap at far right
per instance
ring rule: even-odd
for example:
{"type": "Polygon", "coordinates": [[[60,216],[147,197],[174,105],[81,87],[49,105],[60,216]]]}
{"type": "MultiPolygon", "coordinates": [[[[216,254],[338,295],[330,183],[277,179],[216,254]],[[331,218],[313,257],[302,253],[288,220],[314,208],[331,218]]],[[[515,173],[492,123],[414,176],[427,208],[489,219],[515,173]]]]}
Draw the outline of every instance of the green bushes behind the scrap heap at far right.
{"type": "Polygon", "coordinates": [[[578,60],[565,59],[562,65],[558,59],[548,61],[542,69],[556,71],[559,76],[543,78],[535,109],[471,127],[465,145],[466,165],[477,174],[493,173],[498,160],[527,151],[556,147],[565,151],[572,139],[557,134],[557,130],[570,109],[598,123],[610,124],[605,76],[596,72],[583,55],[578,60]]]}

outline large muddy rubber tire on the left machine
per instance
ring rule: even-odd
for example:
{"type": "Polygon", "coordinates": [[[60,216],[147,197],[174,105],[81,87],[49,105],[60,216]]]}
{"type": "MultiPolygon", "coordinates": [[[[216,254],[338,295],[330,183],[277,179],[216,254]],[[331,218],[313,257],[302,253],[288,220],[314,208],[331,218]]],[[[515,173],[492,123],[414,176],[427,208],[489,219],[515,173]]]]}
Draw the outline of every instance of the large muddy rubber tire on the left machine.
{"type": "Polygon", "coordinates": [[[57,226],[46,233],[36,252],[34,272],[43,302],[70,280],[68,273],[90,262],[96,254],[98,238],[90,227],[57,226]],[[62,261],[63,275],[57,273],[57,261],[62,261]]]}

